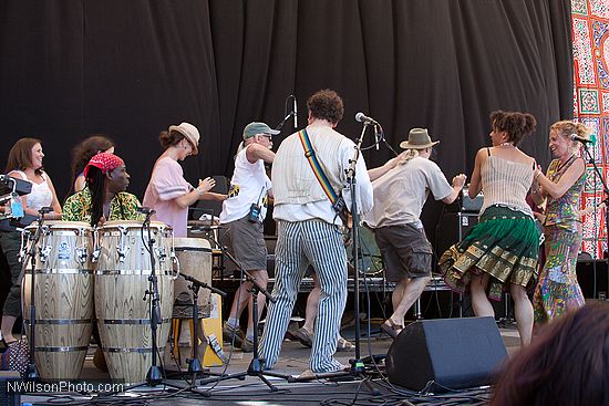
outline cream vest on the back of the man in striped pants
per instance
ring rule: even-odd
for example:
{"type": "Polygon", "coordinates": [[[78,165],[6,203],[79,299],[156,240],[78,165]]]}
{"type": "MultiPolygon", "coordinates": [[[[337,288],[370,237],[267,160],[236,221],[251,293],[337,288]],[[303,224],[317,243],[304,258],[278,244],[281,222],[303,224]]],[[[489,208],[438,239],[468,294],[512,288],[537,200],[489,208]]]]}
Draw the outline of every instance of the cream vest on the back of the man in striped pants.
{"type": "MultiPolygon", "coordinates": [[[[339,194],[343,189],[343,163],[340,162],[340,146],[349,138],[328,126],[309,126],[307,134],[326,176],[339,194]]],[[[328,200],[304,157],[304,149],[298,133],[286,138],[272,162],[272,191],[275,204],[309,204],[328,200]]]]}

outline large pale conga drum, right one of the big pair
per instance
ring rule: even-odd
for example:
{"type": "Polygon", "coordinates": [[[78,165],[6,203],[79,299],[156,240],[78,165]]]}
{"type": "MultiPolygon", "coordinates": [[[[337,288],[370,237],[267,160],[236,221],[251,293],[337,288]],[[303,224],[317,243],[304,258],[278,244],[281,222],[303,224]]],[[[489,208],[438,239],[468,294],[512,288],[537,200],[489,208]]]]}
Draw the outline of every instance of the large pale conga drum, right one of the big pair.
{"type": "MultiPolygon", "coordinates": [[[[156,343],[163,353],[169,335],[174,280],[172,228],[152,221],[152,254],[157,277],[161,325],[156,343]]],[[[97,229],[95,313],[102,351],[112,379],[125,384],[144,382],[152,365],[152,273],[148,232],[141,221],[107,221],[97,229]]]]}

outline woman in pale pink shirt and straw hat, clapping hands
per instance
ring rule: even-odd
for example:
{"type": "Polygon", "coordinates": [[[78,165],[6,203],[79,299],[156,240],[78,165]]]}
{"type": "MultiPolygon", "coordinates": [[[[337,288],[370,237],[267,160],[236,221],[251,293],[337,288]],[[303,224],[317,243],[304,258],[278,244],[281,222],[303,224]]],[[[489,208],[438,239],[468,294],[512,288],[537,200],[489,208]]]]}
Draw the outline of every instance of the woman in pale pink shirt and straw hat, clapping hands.
{"type": "Polygon", "coordinates": [[[178,160],[198,154],[199,132],[189,123],[172,125],[159,134],[165,152],[154,164],[151,181],[144,195],[143,205],[156,210],[153,218],[174,229],[175,237],[186,237],[188,206],[197,200],[224,200],[225,195],[208,192],[216,181],[207,177],[193,187],[184,179],[178,160]]]}

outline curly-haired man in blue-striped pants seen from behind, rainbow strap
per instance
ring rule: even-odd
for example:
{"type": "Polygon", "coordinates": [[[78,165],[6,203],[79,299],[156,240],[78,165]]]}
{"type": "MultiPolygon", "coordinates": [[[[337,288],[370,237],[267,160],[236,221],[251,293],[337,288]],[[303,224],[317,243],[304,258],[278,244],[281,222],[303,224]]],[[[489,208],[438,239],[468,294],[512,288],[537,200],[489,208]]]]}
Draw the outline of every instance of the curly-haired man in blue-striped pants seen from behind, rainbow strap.
{"type": "MultiPolygon", "coordinates": [[[[306,128],[317,159],[323,167],[331,187],[349,197],[345,169],[353,158],[354,144],[334,131],[342,119],[342,98],[333,91],[314,93],[307,102],[306,128]]],[[[260,342],[265,368],[278,360],[281,342],[288,327],[298,288],[307,267],[311,264],[319,277],[321,296],[316,322],[310,369],[327,373],[343,369],[334,357],[340,319],[347,300],[347,253],[340,231],[341,220],[304,156],[299,133],[280,145],[272,166],[275,195],[273,218],[278,221],[275,251],[276,283],[269,304],[267,323],[260,342]]],[[[365,163],[360,156],[355,164],[355,196],[362,212],[372,207],[372,185],[365,163]]]]}

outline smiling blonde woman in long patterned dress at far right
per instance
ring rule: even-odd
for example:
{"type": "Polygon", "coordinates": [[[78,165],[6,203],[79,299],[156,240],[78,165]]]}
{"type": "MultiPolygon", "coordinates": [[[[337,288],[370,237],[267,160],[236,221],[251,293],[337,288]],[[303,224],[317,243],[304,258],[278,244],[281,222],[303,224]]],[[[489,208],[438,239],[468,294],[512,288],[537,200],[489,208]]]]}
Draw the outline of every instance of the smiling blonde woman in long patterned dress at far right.
{"type": "Polygon", "coordinates": [[[549,147],[555,156],[546,175],[538,168],[533,184],[537,205],[546,201],[546,263],[533,296],[535,323],[543,324],[584,305],[577,283],[577,253],[581,247],[579,199],[586,183],[586,164],[578,157],[580,143],[572,135],[587,137],[580,123],[557,122],[549,132],[549,147]]]}

